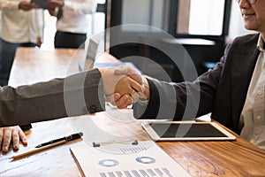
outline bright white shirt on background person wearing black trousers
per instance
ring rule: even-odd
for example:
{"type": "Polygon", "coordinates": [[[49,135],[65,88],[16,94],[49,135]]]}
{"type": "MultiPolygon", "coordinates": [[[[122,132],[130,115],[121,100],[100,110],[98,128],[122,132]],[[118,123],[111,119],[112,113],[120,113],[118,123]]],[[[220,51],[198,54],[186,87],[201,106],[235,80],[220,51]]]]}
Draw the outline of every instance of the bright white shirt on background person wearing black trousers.
{"type": "Polygon", "coordinates": [[[89,14],[96,10],[95,0],[64,0],[63,16],[57,20],[57,30],[87,34],[89,14]]]}

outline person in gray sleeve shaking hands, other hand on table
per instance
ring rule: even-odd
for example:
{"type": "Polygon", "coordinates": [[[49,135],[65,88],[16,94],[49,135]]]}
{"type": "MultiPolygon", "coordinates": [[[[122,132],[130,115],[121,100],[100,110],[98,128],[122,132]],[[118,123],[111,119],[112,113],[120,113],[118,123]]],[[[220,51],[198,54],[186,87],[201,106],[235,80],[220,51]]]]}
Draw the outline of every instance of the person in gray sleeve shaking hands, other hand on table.
{"type": "Polygon", "coordinates": [[[0,87],[0,150],[2,147],[4,152],[8,151],[11,138],[14,150],[19,149],[19,137],[27,144],[19,127],[7,126],[102,112],[105,97],[107,101],[115,101],[114,92],[122,96],[129,94],[123,89],[130,93],[133,90],[143,92],[141,77],[134,81],[125,75],[114,74],[114,68],[102,68],[18,88],[0,87]],[[69,111],[65,96],[71,99],[84,96],[84,100],[71,100],[69,111]]]}

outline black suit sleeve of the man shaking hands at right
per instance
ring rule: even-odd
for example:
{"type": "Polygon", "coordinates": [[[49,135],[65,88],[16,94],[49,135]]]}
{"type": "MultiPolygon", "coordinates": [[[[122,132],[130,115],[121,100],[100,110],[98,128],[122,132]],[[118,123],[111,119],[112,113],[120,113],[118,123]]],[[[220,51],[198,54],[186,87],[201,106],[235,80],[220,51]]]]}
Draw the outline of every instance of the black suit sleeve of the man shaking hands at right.
{"type": "Polygon", "coordinates": [[[229,49],[230,45],[214,69],[195,81],[174,83],[149,79],[148,105],[133,104],[134,118],[190,120],[211,112],[229,49]]]}

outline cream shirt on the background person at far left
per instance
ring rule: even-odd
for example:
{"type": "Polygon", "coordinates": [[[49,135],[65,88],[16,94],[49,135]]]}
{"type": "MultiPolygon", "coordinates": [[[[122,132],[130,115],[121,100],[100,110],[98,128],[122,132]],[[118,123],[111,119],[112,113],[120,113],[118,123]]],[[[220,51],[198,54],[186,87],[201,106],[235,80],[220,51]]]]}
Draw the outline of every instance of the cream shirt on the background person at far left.
{"type": "Polygon", "coordinates": [[[6,42],[37,42],[43,34],[43,10],[19,10],[21,0],[0,0],[1,31],[0,37],[6,42]]]}

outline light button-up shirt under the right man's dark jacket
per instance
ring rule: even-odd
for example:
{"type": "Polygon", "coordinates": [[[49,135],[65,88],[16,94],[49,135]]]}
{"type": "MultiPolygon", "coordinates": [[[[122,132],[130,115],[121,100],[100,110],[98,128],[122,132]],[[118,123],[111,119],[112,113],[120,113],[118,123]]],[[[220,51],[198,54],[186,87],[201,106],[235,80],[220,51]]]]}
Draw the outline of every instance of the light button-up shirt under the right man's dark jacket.
{"type": "Polygon", "coordinates": [[[242,137],[265,150],[265,50],[261,35],[257,47],[261,52],[247,91],[239,127],[242,128],[242,137]]]}

